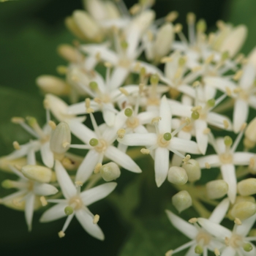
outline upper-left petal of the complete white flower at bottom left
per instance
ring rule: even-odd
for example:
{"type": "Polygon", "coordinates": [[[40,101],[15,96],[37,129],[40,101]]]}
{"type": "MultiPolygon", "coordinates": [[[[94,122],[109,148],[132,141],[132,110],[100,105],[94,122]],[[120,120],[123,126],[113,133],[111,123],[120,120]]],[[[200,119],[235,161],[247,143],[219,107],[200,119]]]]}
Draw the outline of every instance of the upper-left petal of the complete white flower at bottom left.
{"type": "Polygon", "coordinates": [[[64,197],[69,198],[74,196],[76,194],[75,185],[67,174],[67,170],[64,169],[59,160],[55,161],[55,171],[64,197]]]}

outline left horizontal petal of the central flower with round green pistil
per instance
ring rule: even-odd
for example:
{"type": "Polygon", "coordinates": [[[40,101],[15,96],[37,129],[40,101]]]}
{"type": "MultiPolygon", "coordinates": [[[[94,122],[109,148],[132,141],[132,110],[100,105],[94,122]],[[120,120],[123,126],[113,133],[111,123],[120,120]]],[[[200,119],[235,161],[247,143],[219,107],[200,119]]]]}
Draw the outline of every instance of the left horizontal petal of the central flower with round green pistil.
{"type": "Polygon", "coordinates": [[[127,146],[152,146],[157,143],[157,135],[155,133],[132,133],[117,140],[127,146]]]}

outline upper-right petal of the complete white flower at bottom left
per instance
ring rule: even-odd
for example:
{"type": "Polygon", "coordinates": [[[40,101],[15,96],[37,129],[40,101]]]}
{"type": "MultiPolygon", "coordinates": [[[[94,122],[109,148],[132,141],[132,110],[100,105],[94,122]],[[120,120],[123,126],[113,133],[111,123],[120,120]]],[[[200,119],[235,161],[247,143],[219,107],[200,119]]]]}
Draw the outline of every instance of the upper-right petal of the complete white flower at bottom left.
{"type": "Polygon", "coordinates": [[[86,206],[91,205],[91,203],[97,202],[102,198],[108,196],[115,188],[116,182],[110,182],[107,184],[102,184],[93,189],[86,190],[80,194],[83,203],[86,206]]]}

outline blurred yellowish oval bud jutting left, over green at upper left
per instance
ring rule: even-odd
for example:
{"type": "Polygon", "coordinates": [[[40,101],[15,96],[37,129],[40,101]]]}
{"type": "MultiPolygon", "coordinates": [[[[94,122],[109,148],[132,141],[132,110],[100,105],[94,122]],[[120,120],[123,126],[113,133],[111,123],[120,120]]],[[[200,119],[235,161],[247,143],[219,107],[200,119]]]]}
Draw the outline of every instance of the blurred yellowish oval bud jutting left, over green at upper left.
{"type": "Polygon", "coordinates": [[[64,80],[53,75],[40,75],[36,83],[45,94],[50,93],[61,96],[70,92],[69,85],[64,80]]]}

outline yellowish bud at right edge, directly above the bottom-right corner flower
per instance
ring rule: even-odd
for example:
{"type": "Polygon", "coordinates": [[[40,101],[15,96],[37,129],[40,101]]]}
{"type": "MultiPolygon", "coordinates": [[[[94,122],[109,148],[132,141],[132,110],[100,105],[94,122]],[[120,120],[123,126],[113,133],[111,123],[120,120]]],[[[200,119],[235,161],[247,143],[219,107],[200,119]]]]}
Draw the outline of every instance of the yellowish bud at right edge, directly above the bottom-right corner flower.
{"type": "Polygon", "coordinates": [[[233,218],[248,219],[256,213],[256,204],[252,202],[236,203],[230,211],[233,218]]]}

